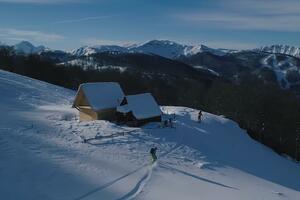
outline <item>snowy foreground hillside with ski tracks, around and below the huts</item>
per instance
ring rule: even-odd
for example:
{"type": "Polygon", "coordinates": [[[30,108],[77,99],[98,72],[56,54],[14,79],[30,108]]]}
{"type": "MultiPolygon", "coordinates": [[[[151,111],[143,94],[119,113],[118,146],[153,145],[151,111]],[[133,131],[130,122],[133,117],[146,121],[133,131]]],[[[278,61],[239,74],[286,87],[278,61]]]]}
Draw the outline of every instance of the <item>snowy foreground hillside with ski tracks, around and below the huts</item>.
{"type": "Polygon", "coordinates": [[[222,116],[162,107],[175,128],[129,128],[78,122],[74,91],[30,78],[0,71],[0,92],[1,199],[299,199],[300,165],[222,116]]]}

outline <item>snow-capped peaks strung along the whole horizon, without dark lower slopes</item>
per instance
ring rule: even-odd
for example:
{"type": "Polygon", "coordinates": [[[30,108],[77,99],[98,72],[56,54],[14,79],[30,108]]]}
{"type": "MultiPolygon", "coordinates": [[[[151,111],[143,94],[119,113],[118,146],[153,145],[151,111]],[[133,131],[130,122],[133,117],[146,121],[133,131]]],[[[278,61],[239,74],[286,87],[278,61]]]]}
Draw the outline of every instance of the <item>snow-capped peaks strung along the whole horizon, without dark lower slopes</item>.
{"type": "MultiPolygon", "coordinates": [[[[0,46],[4,46],[4,43],[0,42],[0,46]]],[[[13,46],[15,51],[20,54],[40,54],[48,51],[60,51],[51,50],[45,46],[34,46],[28,41],[22,41],[13,46]]],[[[78,49],[74,49],[71,52],[65,52],[72,56],[89,56],[95,53],[101,52],[121,52],[121,53],[145,53],[156,54],[166,58],[176,59],[181,56],[193,56],[198,53],[209,52],[214,55],[224,56],[230,53],[240,52],[234,49],[222,49],[222,48],[210,48],[205,45],[184,45],[169,40],[151,40],[142,44],[134,44],[130,46],[118,46],[118,45],[92,45],[82,46],[78,49]]],[[[246,50],[249,51],[249,50],[246,50]]],[[[263,46],[251,51],[267,52],[274,54],[285,54],[300,58],[300,48],[288,45],[271,45],[263,46]]],[[[62,51],[60,51],[62,52],[62,51]]]]}

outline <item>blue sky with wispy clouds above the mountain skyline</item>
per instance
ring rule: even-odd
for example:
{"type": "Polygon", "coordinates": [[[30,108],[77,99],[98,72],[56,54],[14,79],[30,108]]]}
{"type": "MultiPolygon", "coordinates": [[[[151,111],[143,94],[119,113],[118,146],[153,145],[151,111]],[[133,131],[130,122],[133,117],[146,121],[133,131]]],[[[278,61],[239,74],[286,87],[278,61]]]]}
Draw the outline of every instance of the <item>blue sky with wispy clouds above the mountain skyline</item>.
{"type": "Polygon", "coordinates": [[[0,0],[0,41],[54,49],[168,39],[300,46],[299,0],[0,0]]]}

